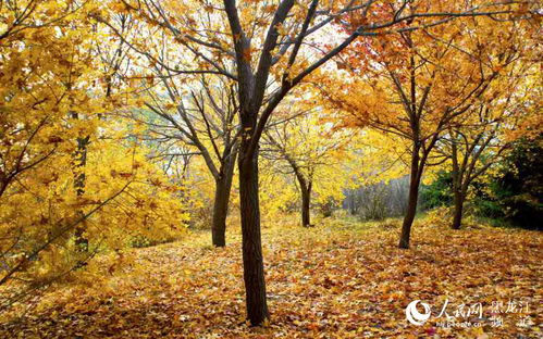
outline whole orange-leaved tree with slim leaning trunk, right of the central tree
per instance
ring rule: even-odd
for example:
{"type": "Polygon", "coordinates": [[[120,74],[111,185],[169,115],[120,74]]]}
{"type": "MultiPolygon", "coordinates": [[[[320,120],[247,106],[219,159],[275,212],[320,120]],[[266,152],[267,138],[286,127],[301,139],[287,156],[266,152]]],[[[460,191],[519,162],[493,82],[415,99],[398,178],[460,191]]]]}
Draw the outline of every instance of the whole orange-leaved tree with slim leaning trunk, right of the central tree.
{"type": "MultiPolygon", "coordinates": [[[[414,9],[407,4],[406,10],[414,9]]],[[[345,124],[371,126],[408,146],[410,184],[399,248],[409,248],[425,167],[444,162],[434,154],[435,146],[518,59],[517,23],[499,29],[493,24],[492,17],[472,17],[415,30],[416,23],[408,21],[396,35],[357,42],[346,52],[349,65],[338,63],[355,77],[343,85],[341,96],[329,95],[346,112],[345,124]]]]}

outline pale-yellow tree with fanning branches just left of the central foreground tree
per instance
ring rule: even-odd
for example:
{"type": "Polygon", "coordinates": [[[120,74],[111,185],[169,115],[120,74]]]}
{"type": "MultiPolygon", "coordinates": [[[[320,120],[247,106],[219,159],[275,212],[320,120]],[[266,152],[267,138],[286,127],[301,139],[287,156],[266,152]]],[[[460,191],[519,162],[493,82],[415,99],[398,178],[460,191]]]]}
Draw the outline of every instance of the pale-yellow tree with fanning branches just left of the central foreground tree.
{"type": "MultiPolygon", "coordinates": [[[[212,243],[225,246],[226,216],[238,150],[239,124],[237,117],[236,85],[221,78],[214,72],[180,71],[187,63],[183,52],[184,42],[174,37],[155,32],[155,21],[147,27],[132,15],[129,4],[118,3],[119,13],[99,17],[101,23],[116,34],[118,38],[134,52],[129,55],[135,74],[126,80],[141,78],[140,88],[135,92],[137,100],[144,101],[145,110],[132,110],[125,115],[143,123],[147,130],[144,138],[151,139],[162,148],[153,159],[176,161],[190,155],[201,155],[213,177],[215,192],[211,217],[212,243]],[[129,29],[124,22],[114,18],[122,16],[131,22],[129,29]],[[140,40],[143,37],[146,42],[140,40]],[[145,46],[144,46],[145,43],[145,46]],[[140,58],[148,62],[147,66],[140,58]],[[184,75],[181,77],[180,75],[184,75]],[[144,92],[146,98],[141,99],[144,92]],[[184,143],[188,149],[184,149],[184,143]]],[[[173,27],[170,27],[173,29],[173,27]]]]}

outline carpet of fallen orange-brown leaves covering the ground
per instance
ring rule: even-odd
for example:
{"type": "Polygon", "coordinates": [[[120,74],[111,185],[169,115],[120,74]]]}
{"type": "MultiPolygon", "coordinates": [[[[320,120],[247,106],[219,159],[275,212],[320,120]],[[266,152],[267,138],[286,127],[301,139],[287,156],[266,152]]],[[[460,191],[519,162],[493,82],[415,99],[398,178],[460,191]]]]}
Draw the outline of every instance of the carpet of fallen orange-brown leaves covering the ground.
{"type": "Polygon", "coordinates": [[[263,228],[271,311],[263,328],[245,322],[240,239],[231,227],[224,249],[211,248],[202,233],[131,250],[120,268],[99,259],[100,277],[57,288],[24,317],[0,325],[0,337],[542,338],[542,233],[417,221],[411,249],[399,250],[397,221],[275,224],[263,228]],[[432,307],[423,326],[406,321],[414,300],[432,307]],[[449,315],[481,303],[482,317],[456,318],[480,327],[440,326],[446,300],[449,315]],[[496,302],[503,313],[491,312],[496,302]],[[517,307],[506,310],[510,302],[517,307]]]}

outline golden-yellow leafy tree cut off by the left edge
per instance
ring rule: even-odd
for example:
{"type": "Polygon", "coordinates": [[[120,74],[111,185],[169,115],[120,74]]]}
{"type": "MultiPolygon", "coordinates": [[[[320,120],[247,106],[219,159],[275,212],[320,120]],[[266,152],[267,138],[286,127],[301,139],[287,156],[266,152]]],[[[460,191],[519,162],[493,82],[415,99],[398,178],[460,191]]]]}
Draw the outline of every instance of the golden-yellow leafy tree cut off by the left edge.
{"type": "Polygon", "coordinates": [[[27,1],[2,3],[0,10],[5,23],[0,35],[0,253],[5,269],[0,285],[3,285],[26,271],[30,261],[36,261],[36,255],[60,234],[73,230],[86,218],[87,215],[81,215],[57,225],[42,218],[39,223],[32,218],[35,212],[25,211],[35,205],[21,204],[20,199],[29,198],[28,187],[40,197],[37,192],[47,191],[48,185],[57,180],[59,173],[51,164],[60,163],[62,154],[73,150],[70,139],[74,131],[94,128],[67,126],[65,121],[71,117],[71,110],[81,106],[96,112],[96,102],[79,88],[90,73],[86,66],[89,55],[75,47],[85,35],[67,25],[82,22],[82,7],[27,1]],[[21,213],[25,217],[17,217],[21,213]],[[46,226],[38,231],[33,228],[35,225],[46,226]]]}

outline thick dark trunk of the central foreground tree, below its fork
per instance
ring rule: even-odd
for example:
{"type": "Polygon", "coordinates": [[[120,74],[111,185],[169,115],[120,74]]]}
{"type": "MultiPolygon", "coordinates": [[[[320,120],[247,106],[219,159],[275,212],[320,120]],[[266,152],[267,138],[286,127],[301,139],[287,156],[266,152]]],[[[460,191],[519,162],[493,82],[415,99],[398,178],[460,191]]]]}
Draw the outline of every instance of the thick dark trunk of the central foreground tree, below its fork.
{"type": "Polygon", "coordinates": [[[258,198],[258,151],[246,159],[250,139],[244,138],[239,151],[239,196],[247,317],[259,326],[269,317],[266,300],[260,208],[258,198]]]}

